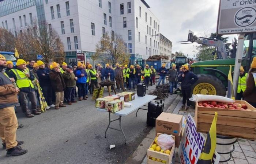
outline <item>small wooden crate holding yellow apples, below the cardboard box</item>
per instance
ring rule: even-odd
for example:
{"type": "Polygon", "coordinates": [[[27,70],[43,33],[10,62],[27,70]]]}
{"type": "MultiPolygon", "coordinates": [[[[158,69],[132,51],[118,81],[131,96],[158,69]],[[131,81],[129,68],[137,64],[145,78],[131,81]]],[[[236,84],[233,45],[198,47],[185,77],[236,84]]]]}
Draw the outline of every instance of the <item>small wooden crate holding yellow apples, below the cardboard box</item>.
{"type": "MultiPolygon", "coordinates": [[[[156,137],[158,137],[160,134],[162,134],[162,133],[157,133],[156,137]]],[[[172,136],[172,137],[173,137],[173,140],[175,141],[175,136],[172,136]]],[[[171,164],[173,153],[175,151],[175,143],[174,143],[172,149],[170,150],[171,151],[170,154],[150,150],[150,148],[152,147],[153,144],[154,144],[154,141],[151,143],[150,147],[147,149],[147,163],[148,164],[163,164],[162,162],[158,162],[158,161],[149,159],[149,157],[155,157],[156,159],[165,160],[166,164],[171,164]]]]}

